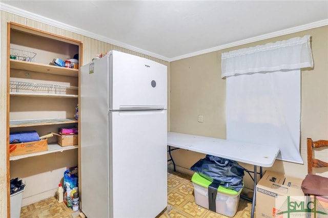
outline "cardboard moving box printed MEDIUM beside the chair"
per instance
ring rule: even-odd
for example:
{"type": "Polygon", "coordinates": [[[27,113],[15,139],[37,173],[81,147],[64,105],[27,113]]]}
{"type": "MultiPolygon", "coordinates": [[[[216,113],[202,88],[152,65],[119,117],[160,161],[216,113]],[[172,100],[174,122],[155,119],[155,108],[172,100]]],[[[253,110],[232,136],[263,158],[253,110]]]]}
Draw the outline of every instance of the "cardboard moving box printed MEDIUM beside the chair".
{"type": "Polygon", "coordinates": [[[305,216],[303,179],[267,171],[256,185],[256,217],[305,216]]]}

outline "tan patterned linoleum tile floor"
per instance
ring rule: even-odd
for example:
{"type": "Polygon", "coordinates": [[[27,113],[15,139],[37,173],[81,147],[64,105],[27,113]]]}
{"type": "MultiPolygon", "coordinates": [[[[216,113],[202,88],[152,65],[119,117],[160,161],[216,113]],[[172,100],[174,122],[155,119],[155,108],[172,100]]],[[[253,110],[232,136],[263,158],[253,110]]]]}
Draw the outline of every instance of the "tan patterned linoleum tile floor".
{"type": "MultiPolygon", "coordinates": [[[[241,199],[237,213],[234,217],[237,218],[249,218],[251,217],[252,203],[241,199]]],[[[71,208],[66,207],[64,203],[57,203],[54,197],[22,207],[20,210],[20,217],[67,217],[76,218],[79,217],[80,211],[74,212],[71,208]]],[[[195,203],[194,186],[191,182],[191,176],[181,172],[168,172],[168,206],[166,211],[163,211],[156,218],[166,217],[228,217],[219,213],[215,213],[206,208],[198,206],[195,203]]],[[[90,217],[98,218],[98,217],[90,217]]],[[[100,217],[99,217],[100,218],[100,217]]],[[[133,218],[133,217],[131,217],[133,218]]]]}

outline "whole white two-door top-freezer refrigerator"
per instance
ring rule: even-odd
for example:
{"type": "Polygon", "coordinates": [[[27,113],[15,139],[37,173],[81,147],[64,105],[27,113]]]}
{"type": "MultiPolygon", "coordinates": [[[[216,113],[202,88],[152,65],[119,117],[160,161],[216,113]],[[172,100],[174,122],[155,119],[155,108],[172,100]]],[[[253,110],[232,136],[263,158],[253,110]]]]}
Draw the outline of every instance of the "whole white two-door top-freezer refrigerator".
{"type": "Polygon", "coordinates": [[[80,73],[82,212],[155,217],[167,207],[167,67],[111,51],[80,73]]]}

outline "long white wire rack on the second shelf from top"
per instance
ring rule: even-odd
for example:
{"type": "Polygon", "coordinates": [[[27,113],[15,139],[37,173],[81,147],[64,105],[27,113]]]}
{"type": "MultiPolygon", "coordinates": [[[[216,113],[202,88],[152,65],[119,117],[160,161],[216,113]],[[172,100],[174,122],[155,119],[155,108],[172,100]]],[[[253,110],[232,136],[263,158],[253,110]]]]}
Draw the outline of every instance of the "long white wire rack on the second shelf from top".
{"type": "Polygon", "coordinates": [[[19,82],[10,81],[9,88],[11,92],[22,92],[23,90],[30,90],[36,93],[48,93],[48,94],[72,94],[77,92],[78,87],[69,85],[56,85],[56,84],[42,84],[32,82],[19,82]]]}

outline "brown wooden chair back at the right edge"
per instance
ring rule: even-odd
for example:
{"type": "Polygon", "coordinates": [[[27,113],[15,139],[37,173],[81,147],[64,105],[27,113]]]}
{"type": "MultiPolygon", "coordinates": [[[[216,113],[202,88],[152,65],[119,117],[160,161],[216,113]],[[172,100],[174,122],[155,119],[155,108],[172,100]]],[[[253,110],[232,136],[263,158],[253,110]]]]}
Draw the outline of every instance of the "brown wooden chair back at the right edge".
{"type": "Polygon", "coordinates": [[[314,148],[318,147],[327,147],[328,148],[328,140],[318,140],[318,141],[312,141],[311,138],[308,138],[308,173],[312,174],[313,168],[319,168],[319,167],[328,167],[328,163],[318,160],[313,156],[313,150],[314,148]]]}

